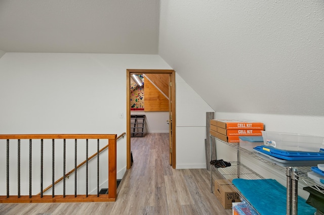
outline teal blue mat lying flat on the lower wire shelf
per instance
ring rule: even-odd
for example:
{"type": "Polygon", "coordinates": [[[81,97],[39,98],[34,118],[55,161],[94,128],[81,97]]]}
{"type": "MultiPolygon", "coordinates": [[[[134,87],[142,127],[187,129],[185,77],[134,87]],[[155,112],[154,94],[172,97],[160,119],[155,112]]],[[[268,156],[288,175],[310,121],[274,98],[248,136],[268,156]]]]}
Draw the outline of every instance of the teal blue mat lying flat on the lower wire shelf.
{"type": "MultiPolygon", "coordinates": [[[[233,184],[262,215],[286,214],[287,189],[274,179],[233,179],[233,184]]],[[[316,209],[298,196],[298,214],[313,215],[316,209]]]]}

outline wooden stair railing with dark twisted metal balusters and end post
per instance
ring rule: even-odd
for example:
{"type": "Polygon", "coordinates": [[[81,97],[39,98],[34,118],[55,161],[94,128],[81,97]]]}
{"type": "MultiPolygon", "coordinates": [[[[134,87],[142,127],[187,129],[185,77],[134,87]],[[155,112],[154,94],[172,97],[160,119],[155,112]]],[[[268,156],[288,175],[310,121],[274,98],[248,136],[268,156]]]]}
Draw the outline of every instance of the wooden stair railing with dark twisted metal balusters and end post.
{"type": "MultiPolygon", "coordinates": [[[[122,134],[122,136],[124,136],[122,134]]],[[[115,201],[116,199],[116,140],[117,140],[117,135],[116,134],[4,134],[0,135],[0,140],[6,140],[7,144],[7,149],[6,149],[6,162],[4,162],[4,157],[1,158],[3,159],[2,164],[6,164],[6,191],[7,195],[0,195],[0,203],[31,203],[31,202],[91,202],[91,201],[115,201]],[[21,166],[21,140],[27,139],[29,140],[29,195],[21,195],[20,194],[20,166],[21,166]],[[41,140],[41,152],[40,152],[40,163],[41,163],[41,170],[40,170],[40,182],[41,182],[41,193],[40,195],[32,195],[32,171],[35,171],[32,169],[32,145],[33,145],[33,140],[41,140]],[[43,191],[43,177],[44,177],[44,140],[52,140],[52,196],[51,195],[44,195],[43,191]],[[58,153],[55,151],[55,146],[58,142],[58,139],[61,141],[63,140],[63,195],[55,195],[55,182],[54,182],[54,163],[55,163],[55,153],[58,153]],[[75,146],[75,151],[74,151],[74,195],[66,195],[65,190],[66,190],[66,174],[65,173],[65,168],[66,168],[66,156],[69,155],[69,153],[66,153],[66,140],[67,139],[74,139],[74,146],[75,146]],[[88,140],[97,140],[97,153],[99,155],[100,150],[99,150],[99,142],[101,139],[106,139],[108,140],[108,189],[109,192],[108,194],[99,194],[99,156],[98,162],[97,162],[97,195],[89,195],[88,193],[88,162],[89,158],[86,159],[86,194],[84,195],[79,195],[77,194],[77,165],[76,165],[76,158],[77,158],[77,140],[79,139],[86,139],[86,153],[88,157],[88,147],[89,147],[89,142],[88,140]],[[10,144],[14,144],[14,140],[17,140],[17,164],[18,164],[18,169],[17,169],[17,195],[10,195],[10,160],[13,158],[10,157],[9,149],[13,148],[10,144]]],[[[24,143],[23,143],[24,144],[24,143]]],[[[0,149],[1,150],[1,149],[0,149]]],[[[104,150],[104,149],[102,149],[104,150]]],[[[101,151],[102,151],[101,150],[101,151]]],[[[27,152],[28,153],[28,152],[27,152]]],[[[91,159],[91,158],[90,158],[91,159]]],[[[0,164],[1,165],[1,164],[0,164]]],[[[73,172],[74,172],[73,171],[73,172]]],[[[71,174],[71,173],[69,173],[71,174]]],[[[16,194],[16,193],[15,193],[16,194]]]]}

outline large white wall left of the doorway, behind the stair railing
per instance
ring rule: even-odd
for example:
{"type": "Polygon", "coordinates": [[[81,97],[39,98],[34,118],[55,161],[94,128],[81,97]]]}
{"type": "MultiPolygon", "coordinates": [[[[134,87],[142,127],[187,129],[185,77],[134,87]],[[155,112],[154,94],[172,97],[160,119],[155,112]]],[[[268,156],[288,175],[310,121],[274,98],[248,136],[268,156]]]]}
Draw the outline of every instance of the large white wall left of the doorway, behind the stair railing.
{"type": "MultiPolygon", "coordinates": [[[[126,69],[171,68],[157,55],[6,53],[0,59],[0,133],[125,132],[126,69]],[[120,119],[119,113],[124,118],[120,119]]],[[[4,147],[6,144],[1,142],[3,158],[4,147]]],[[[68,151],[74,151],[74,147],[68,151]]],[[[16,160],[15,157],[13,154],[11,159],[16,160]]],[[[104,159],[105,155],[101,157],[104,159]]],[[[51,160],[47,162],[51,165],[51,160]]],[[[5,165],[0,171],[6,173],[5,165]]],[[[117,178],[123,177],[125,171],[126,138],[121,138],[117,141],[117,178]]],[[[24,169],[24,174],[27,172],[24,169]]],[[[100,181],[104,182],[101,175],[100,181]]],[[[33,176],[33,193],[39,191],[38,178],[33,176]]],[[[15,171],[10,180],[14,191],[15,171]]],[[[6,183],[6,174],[1,174],[0,181],[6,183]]],[[[5,193],[5,186],[0,193],[5,193]]]]}

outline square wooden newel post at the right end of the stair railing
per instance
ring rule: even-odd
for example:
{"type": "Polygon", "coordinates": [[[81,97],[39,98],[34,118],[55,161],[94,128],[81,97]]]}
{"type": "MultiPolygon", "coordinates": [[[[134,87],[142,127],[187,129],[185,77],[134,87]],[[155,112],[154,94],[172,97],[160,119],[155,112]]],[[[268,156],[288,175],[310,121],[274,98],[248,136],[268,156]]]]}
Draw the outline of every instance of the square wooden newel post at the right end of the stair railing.
{"type": "Polygon", "coordinates": [[[117,194],[117,147],[116,139],[108,139],[108,198],[116,198],[117,194]]]}

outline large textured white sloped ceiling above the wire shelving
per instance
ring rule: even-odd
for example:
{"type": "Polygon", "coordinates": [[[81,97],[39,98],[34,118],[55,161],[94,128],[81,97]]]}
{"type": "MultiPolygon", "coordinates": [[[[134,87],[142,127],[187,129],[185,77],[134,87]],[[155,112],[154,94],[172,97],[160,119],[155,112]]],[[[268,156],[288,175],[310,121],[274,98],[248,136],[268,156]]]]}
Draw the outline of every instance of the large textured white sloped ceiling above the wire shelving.
{"type": "Polygon", "coordinates": [[[159,55],[216,112],[324,115],[323,1],[161,1],[159,55]]]}

